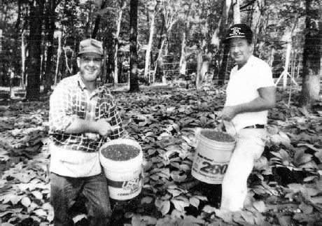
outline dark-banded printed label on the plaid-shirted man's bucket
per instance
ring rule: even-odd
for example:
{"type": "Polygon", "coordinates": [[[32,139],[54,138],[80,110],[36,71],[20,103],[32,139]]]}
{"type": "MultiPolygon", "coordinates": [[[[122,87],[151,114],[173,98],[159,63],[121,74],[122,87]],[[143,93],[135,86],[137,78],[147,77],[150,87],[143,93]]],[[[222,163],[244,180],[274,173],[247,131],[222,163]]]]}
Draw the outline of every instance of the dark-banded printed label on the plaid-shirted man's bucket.
{"type": "Polygon", "coordinates": [[[107,181],[109,183],[109,193],[112,199],[132,199],[141,192],[141,174],[129,181],[111,181],[109,178],[107,178],[107,181]]]}

